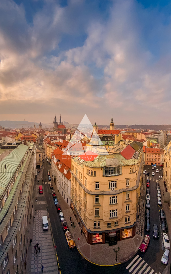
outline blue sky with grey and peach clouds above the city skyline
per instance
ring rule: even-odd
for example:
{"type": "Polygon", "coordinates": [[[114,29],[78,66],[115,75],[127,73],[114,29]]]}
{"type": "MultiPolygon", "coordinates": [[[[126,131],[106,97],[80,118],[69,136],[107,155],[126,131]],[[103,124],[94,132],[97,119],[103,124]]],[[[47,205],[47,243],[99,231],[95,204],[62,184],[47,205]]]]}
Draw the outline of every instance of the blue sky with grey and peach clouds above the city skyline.
{"type": "Polygon", "coordinates": [[[171,124],[171,3],[0,1],[0,120],[171,124]]]}

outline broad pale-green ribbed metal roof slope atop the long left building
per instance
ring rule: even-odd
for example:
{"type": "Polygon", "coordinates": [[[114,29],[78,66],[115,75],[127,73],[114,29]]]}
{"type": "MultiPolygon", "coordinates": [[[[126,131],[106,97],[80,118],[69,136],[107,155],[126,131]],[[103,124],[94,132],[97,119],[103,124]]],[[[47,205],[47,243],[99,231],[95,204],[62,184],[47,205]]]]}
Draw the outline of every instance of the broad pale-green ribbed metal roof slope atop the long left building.
{"type": "Polygon", "coordinates": [[[21,144],[0,162],[0,198],[17,171],[27,150],[29,150],[29,147],[21,144]]]}

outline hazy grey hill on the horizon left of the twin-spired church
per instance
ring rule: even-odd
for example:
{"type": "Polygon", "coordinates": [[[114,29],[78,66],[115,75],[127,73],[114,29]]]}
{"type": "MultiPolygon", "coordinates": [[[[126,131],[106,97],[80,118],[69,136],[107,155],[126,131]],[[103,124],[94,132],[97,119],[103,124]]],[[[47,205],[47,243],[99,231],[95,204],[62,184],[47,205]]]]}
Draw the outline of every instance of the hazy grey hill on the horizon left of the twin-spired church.
{"type": "MultiPolygon", "coordinates": [[[[0,124],[2,125],[2,127],[6,127],[6,128],[10,128],[10,129],[17,129],[17,128],[21,128],[21,127],[25,127],[28,128],[29,127],[33,127],[34,128],[34,122],[29,122],[29,121],[0,121],[0,124]]],[[[35,124],[37,125],[36,128],[38,128],[39,123],[35,122],[35,124]]],[[[48,124],[42,124],[42,128],[49,128],[50,126],[48,124]]]]}

